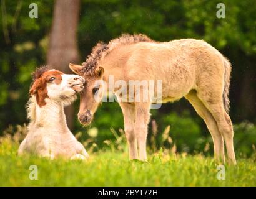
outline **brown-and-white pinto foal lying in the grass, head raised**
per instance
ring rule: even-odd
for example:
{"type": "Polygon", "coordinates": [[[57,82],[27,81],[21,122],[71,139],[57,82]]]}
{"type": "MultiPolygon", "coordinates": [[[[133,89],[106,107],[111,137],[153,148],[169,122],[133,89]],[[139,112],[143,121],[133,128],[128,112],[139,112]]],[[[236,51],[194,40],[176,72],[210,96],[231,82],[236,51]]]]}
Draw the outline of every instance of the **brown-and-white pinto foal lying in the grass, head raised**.
{"type": "Polygon", "coordinates": [[[51,159],[89,157],[84,146],[69,131],[64,114],[64,106],[71,104],[76,93],[84,89],[84,78],[48,67],[38,68],[33,76],[31,98],[27,104],[28,134],[18,154],[32,153],[51,159]]]}

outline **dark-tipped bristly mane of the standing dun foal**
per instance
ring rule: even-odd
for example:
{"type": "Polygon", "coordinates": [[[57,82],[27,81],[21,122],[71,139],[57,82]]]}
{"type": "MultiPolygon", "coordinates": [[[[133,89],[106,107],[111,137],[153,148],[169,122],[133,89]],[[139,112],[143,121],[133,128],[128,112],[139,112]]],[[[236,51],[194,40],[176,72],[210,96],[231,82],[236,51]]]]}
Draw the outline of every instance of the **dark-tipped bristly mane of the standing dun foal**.
{"type": "Polygon", "coordinates": [[[82,69],[82,73],[93,75],[99,60],[111,52],[112,49],[119,45],[135,44],[139,42],[154,42],[154,40],[144,34],[122,34],[120,37],[112,39],[108,44],[99,42],[93,47],[91,54],[86,59],[86,62],[82,63],[82,66],[84,67],[82,69]]]}

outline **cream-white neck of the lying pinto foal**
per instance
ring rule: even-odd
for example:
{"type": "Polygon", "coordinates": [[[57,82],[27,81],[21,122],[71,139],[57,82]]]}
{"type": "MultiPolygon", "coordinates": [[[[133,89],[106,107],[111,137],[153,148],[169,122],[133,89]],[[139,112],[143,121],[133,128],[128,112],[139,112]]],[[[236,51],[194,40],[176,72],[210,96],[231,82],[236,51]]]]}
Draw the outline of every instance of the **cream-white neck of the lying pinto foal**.
{"type": "Polygon", "coordinates": [[[36,103],[34,106],[34,118],[31,118],[34,126],[49,128],[51,131],[69,132],[62,102],[46,99],[46,105],[40,107],[36,103]]]}

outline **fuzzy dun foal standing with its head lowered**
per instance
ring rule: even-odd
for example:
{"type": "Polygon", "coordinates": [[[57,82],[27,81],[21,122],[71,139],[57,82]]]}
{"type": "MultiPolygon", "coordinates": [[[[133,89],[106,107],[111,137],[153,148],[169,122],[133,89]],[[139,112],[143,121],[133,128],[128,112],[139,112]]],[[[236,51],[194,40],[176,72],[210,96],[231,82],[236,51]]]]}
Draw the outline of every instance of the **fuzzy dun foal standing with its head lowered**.
{"type": "MultiPolygon", "coordinates": [[[[228,114],[231,66],[229,60],[207,42],[195,39],[155,42],[146,35],[124,34],[108,44],[100,42],[86,62],[69,67],[86,79],[79,111],[82,124],[91,122],[99,104],[94,98],[97,91],[104,89],[99,86],[99,80],[109,82],[109,76],[113,76],[114,81],[122,80],[127,85],[130,80],[161,80],[160,101],[176,101],[184,96],[210,131],[216,162],[225,163],[225,141],[228,162],[236,164],[234,132],[228,114]]],[[[115,88],[114,92],[117,90],[115,88]]],[[[134,98],[136,93],[128,95],[134,98]]],[[[119,100],[130,159],[147,159],[147,125],[150,104],[154,102],[119,100]]]]}

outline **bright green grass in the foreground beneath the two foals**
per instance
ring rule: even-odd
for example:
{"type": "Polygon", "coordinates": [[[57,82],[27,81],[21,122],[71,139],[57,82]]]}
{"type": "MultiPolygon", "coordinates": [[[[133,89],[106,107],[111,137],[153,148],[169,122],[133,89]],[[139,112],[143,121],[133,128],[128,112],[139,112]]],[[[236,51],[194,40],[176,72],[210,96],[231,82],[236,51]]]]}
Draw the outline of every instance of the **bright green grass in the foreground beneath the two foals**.
{"type": "Polygon", "coordinates": [[[97,152],[86,162],[17,157],[17,144],[0,145],[1,186],[256,186],[252,159],[225,166],[225,180],[217,180],[212,157],[150,155],[149,162],[129,161],[127,153],[97,152]],[[30,180],[37,165],[38,180],[30,180]]]}

